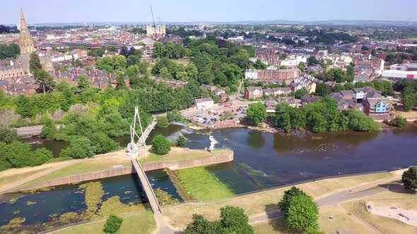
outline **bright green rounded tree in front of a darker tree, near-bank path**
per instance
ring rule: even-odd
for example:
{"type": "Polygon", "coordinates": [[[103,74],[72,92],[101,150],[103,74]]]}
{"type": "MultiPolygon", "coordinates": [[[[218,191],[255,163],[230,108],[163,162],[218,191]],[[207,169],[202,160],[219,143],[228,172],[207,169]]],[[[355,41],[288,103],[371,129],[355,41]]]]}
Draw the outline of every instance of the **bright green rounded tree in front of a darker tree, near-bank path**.
{"type": "Polygon", "coordinates": [[[318,229],[319,209],[312,197],[296,195],[290,199],[286,214],[286,226],[295,232],[305,233],[307,229],[318,229]]]}

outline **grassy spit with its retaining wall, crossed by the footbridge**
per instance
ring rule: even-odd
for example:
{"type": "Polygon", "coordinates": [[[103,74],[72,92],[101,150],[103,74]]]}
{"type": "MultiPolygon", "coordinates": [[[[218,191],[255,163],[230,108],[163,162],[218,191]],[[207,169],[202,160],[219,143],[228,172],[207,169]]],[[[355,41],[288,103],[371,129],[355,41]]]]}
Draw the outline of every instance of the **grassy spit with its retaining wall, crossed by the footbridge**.
{"type": "MultiPolygon", "coordinates": [[[[212,152],[207,152],[204,149],[172,147],[169,154],[158,156],[150,153],[140,160],[145,171],[153,171],[161,168],[179,170],[233,161],[233,151],[229,149],[216,149],[212,152]]],[[[66,163],[68,165],[62,163],[50,164],[47,168],[54,168],[55,166],[60,166],[61,168],[57,168],[57,170],[51,171],[50,173],[45,173],[42,176],[33,178],[33,180],[25,181],[25,183],[15,187],[8,187],[4,192],[11,190],[31,190],[40,187],[78,183],[86,180],[134,173],[134,170],[131,168],[131,161],[127,158],[124,151],[102,154],[94,156],[91,159],[71,160],[69,162],[66,163]]],[[[8,171],[2,172],[4,176],[0,176],[1,185],[6,187],[11,183],[16,183],[20,178],[36,174],[38,170],[46,170],[45,166],[40,166],[39,169],[33,168],[34,170],[30,171],[25,169],[27,168],[21,168],[21,173],[18,173],[18,169],[12,169],[11,171],[13,171],[13,173],[8,173],[8,171]]]]}

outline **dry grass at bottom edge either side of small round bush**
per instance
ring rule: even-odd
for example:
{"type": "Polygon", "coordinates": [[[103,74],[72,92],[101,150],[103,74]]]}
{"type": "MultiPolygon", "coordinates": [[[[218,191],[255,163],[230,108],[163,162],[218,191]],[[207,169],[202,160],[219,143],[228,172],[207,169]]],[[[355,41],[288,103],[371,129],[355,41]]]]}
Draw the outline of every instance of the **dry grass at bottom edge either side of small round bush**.
{"type": "MultiPolygon", "coordinates": [[[[153,218],[152,211],[139,211],[134,214],[128,214],[123,217],[123,223],[118,234],[124,233],[152,233],[156,228],[155,219],[153,218]]],[[[94,223],[86,223],[71,228],[65,228],[54,231],[55,234],[72,234],[72,233],[88,233],[88,234],[101,234],[105,221],[97,221],[94,223]]]]}

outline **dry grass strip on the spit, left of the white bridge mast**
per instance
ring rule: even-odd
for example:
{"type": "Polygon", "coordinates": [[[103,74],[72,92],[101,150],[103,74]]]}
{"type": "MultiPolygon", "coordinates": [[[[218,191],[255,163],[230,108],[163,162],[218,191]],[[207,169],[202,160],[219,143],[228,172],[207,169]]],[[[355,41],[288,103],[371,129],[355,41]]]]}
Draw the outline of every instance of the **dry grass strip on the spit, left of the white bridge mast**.
{"type": "Polygon", "coordinates": [[[93,159],[83,159],[80,160],[77,164],[66,166],[57,171],[49,173],[46,176],[42,176],[41,178],[31,180],[28,183],[25,183],[22,187],[28,185],[35,185],[36,183],[42,183],[45,181],[54,180],[65,176],[111,169],[115,165],[131,166],[131,161],[127,158],[118,157],[98,157],[93,159]]]}

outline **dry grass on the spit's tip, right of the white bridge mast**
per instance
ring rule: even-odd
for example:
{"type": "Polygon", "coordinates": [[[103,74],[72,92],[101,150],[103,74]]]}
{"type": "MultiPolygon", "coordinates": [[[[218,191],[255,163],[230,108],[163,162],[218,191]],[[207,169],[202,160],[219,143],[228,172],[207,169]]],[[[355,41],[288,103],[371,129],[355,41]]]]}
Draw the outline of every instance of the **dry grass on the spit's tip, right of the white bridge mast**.
{"type": "Polygon", "coordinates": [[[148,154],[148,156],[139,159],[139,161],[143,164],[146,163],[153,163],[153,162],[176,162],[176,161],[185,161],[189,159],[201,159],[201,158],[208,158],[211,156],[218,156],[221,154],[232,154],[233,152],[228,149],[221,149],[216,150],[215,152],[206,152],[205,150],[201,149],[184,149],[184,148],[177,148],[172,147],[171,151],[165,155],[156,155],[156,154],[148,154]]]}

